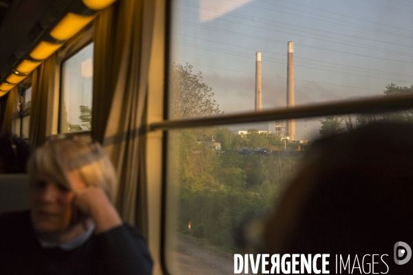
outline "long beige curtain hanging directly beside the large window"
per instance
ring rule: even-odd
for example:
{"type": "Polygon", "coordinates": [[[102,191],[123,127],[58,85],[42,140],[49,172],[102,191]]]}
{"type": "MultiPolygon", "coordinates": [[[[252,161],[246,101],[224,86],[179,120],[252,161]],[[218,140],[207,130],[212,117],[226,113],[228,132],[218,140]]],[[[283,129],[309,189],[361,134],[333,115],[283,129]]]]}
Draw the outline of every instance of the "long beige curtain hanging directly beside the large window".
{"type": "Polygon", "coordinates": [[[116,208],[124,221],[147,236],[143,129],[155,1],[118,2],[95,21],[92,137],[103,143],[116,167],[116,208]],[[108,29],[100,34],[100,30],[108,29]],[[110,107],[102,98],[112,98],[110,107]],[[105,116],[103,131],[100,126],[105,116]]]}

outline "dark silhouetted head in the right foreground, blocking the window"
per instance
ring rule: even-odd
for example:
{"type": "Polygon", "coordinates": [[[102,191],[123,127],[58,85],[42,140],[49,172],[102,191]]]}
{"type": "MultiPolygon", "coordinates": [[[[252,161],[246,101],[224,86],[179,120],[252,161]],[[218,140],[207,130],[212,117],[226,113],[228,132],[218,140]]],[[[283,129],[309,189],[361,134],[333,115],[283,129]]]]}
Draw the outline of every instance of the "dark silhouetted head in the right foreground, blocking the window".
{"type": "Polygon", "coordinates": [[[397,241],[413,245],[411,124],[369,124],[306,153],[266,228],[267,252],[389,254],[389,262],[397,241]]]}

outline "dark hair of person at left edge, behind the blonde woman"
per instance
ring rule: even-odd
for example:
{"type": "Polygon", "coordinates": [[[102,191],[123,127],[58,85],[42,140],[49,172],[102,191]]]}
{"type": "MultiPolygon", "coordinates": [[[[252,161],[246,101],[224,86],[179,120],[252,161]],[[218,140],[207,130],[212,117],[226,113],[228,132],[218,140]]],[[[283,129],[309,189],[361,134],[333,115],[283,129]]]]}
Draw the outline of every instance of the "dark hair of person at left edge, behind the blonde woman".
{"type": "Polygon", "coordinates": [[[0,134],[0,161],[3,173],[26,173],[32,146],[12,133],[0,134]]]}

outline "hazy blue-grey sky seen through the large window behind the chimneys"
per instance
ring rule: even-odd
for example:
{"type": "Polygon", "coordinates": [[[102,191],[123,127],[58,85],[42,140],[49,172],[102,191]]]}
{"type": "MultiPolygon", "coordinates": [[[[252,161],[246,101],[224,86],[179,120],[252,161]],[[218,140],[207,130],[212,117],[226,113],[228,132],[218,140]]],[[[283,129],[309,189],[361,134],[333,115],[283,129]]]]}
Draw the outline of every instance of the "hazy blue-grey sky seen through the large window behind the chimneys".
{"type": "MultiPolygon", "coordinates": [[[[225,113],[254,111],[256,52],[262,109],[286,107],[288,41],[296,106],[413,85],[413,0],[177,0],[172,14],[171,61],[202,72],[225,113]]],[[[297,120],[297,139],[320,119],[297,120]]]]}

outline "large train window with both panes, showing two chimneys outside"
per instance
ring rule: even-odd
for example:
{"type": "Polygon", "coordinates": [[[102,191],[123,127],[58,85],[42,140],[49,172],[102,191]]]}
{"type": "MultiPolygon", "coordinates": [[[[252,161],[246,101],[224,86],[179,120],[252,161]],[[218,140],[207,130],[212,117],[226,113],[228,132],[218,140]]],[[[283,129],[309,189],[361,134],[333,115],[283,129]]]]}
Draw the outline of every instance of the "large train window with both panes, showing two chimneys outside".
{"type": "MultiPolygon", "coordinates": [[[[224,120],[413,94],[412,7],[401,1],[172,1],[168,118],[224,120]]],[[[243,119],[212,127],[200,120],[197,128],[168,132],[172,274],[233,274],[237,230],[271,209],[312,141],[371,121],[412,117],[399,111],[243,119]]]]}

